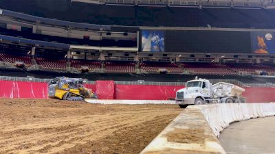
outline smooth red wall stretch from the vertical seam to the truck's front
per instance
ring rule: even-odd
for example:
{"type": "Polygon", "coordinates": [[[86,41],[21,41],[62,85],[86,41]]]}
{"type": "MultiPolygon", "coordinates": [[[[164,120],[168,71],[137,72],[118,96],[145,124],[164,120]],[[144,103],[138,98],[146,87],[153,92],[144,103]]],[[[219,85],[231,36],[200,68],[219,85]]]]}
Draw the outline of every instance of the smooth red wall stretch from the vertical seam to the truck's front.
{"type": "Polygon", "coordinates": [[[115,85],[115,99],[167,100],[183,86],[115,85]]]}

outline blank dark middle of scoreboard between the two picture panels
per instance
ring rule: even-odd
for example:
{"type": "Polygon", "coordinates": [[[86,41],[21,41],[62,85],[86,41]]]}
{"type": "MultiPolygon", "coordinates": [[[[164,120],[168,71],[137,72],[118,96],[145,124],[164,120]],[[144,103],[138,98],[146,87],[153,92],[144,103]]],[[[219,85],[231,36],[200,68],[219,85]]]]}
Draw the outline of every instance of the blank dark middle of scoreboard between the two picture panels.
{"type": "Polygon", "coordinates": [[[249,31],[166,31],[166,52],[251,53],[249,31]]]}

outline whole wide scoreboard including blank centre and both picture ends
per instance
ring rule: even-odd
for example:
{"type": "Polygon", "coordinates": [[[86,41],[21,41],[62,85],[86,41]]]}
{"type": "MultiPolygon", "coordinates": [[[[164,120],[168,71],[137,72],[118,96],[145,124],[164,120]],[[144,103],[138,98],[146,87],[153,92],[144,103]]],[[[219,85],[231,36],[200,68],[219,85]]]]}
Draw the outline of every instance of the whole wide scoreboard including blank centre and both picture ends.
{"type": "Polygon", "coordinates": [[[275,54],[275,32],[142,30],[140,34],[143,52],[275,54]]]}

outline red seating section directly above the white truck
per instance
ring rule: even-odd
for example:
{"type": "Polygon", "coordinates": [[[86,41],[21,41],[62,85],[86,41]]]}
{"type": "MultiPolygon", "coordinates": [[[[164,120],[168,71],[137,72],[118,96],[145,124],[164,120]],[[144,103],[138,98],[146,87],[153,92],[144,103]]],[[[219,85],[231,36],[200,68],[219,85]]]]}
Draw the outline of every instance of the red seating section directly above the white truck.
{"type": "Polygon", "coordinates": [[[200,75],[236,75],[236,71],[219,63],[182,63],[181,66],[188,72],[200,75]]]}

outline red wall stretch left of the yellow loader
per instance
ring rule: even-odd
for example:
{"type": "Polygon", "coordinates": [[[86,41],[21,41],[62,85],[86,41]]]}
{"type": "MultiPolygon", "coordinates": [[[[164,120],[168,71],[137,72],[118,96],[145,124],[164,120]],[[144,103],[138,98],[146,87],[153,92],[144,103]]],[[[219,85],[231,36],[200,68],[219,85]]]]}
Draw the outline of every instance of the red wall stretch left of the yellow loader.
{"type": "Polygon", "coordinates": [[[47,99],[47,83],[0,81],[0,98],[47,99]]]}

